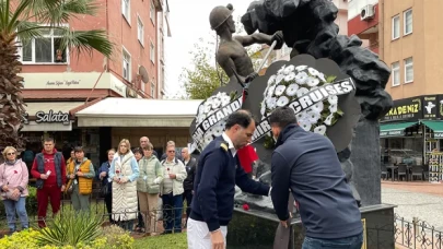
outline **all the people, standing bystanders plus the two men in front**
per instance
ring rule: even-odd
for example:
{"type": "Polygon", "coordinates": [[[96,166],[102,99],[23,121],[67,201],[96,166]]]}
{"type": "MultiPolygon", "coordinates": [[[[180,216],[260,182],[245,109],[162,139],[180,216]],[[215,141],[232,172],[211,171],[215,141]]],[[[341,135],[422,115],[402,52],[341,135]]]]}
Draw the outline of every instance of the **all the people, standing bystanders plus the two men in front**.
{"type": "MultiPolygon", "coordinates": [[[[269,124],[276,141],[271,186],[256,181],[242,167],[241,152],[249,146],[256,129],[247,110],[237,110],[228,117],[225,131],[201,152],[198,163],[186,147],[182,155],[176,155],[173,141],[167,142],[166,153],[159,156],[143,137],[140,147],[133,151],[128,140],[121,140],[116,151],[107,152],[107,162],[95,170],[82,147],[74,147],[66,162],[55,149],[54,140],[45,139],[44,150],[35,156],[31,169],[31,175],[37,179],[38,225],[45,226],[49,202],[54,214],[59,211],[63,191],[71,194],[75,211],[89,212],[92,182],[96,177],[102,181],[101,191],[110,223],[156,235],[161,200],[162,234],[180,233],[186,200],[188,248],[222,249],[226,247],[237,185],[245,192],[270,195],[282,227],[290,225],[288,203],[292,194],[306,230],[303,249],[361,248],[361,214],[333,143],[300,128],[289,107],[277,108],[269,117],[269,124]]],[[[0,192],[9,227],[14,232],[15,212],[22,227],[28,227],[25,209],[28,173],[25,163],[18,159],[14,147],[4,149],[3,157],[0,192]]],[[[283,240],[277,241],[277,248],[285,248],[283,244],[283,240]]]]}

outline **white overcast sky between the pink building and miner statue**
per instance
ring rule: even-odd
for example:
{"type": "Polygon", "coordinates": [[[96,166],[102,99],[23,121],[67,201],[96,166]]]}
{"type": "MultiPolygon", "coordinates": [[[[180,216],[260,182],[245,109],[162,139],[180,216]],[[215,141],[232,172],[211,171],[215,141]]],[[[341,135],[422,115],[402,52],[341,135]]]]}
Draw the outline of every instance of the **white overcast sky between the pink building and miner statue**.
{"type": "MultiPolygon", "coordinates": [[[[168,0],[170,26],[172,37],[165,38],[166,92],[174,95],[180,86],[179,74],[188,67],[191,57],[189,51],[201,37],[212,39],[214,32],[209,24],[209,13],[217,5],[232,3],[234,20],[246,12],[253,0],[168,0]]],[[[214,40],[213,40],[214,42],[214,40]]]]}

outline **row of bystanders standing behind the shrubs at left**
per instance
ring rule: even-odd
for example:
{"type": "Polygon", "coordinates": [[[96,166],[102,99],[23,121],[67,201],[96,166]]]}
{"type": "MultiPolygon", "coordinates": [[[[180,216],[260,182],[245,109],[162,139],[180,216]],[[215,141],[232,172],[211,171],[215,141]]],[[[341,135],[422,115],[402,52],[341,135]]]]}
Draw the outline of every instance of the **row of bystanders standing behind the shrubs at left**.
{"type": "Polygon", "coordinates": [[[147,137],[141,138],[140,146],[133,150],[124,139],[117,150],[107,151],[107,161],[95,168],[81,146],[73,147],[68,159],[55,149],[54,139],[46,138],[43,146],[33,159],[31,176],[26,164],[18,158],[16,149],[9,146],[3,151],[0,191],[11,233],[16,230],[15,213],[22,228],[30,227],[25,208],[30,177],[36,179],[39,227],[46,226],[49,203],[53,215],[59,212],[61,193],[70,195],[74,211],[90,212],[96,179],[101,182],[109,223],[127,230],[156,235],[156,217],[161,214],[162,234],[182,232],[184,201],[189,216],[197,166],[187,147],[176,155],[175,142],[168,141],[166,153],[159,156],[147,137]]]}

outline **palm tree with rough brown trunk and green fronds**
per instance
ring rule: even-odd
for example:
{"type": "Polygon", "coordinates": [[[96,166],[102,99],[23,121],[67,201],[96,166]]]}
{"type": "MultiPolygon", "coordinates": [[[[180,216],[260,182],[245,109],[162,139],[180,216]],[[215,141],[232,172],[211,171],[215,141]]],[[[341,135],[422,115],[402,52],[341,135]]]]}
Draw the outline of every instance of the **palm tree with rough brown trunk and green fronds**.
{"type": "Polygon", "coordinates": [[[26,106],[21,90],[23,78],[19,47],[43,37],[48,31],[61,34],[59,49],[92,56],[96,50],[110,57],[113,44],[106,31],[70,31],[63,24],[82,15],[94,15],[100,5],[94,0],[0,0],[0,151],[12,145],[23,149],[19,135],[26,106]]]}

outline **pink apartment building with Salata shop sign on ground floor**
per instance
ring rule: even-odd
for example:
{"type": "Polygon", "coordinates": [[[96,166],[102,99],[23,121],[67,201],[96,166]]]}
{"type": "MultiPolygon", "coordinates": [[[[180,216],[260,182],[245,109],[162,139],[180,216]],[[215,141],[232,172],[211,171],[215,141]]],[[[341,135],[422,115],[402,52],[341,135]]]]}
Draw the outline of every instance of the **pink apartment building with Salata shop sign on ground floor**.
{"type": "Polygon", "coordinates": [[[171,36],[167,0],[96,1],[103,8],[95,16],[79,16],[65,25],[77,31],[105,29],[115,45],[110,58],[97,52],[61,51],[56,31],[19,49],[27,105],[22,132],[28,145],[40,146],[47,135],[55,137],[59,145],[83,144],[94,164],[100,151],[103,157],[110,147],[110,127],[119,124],[104,124],[103,129],[80,124],[77,114],[108,97],[161,99],[163,40],[171,36]]]}

